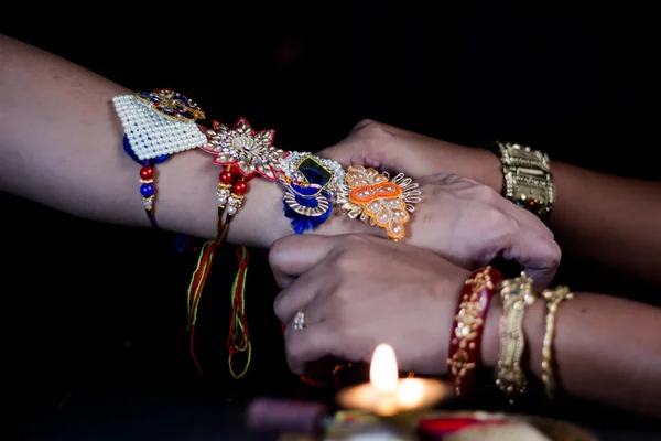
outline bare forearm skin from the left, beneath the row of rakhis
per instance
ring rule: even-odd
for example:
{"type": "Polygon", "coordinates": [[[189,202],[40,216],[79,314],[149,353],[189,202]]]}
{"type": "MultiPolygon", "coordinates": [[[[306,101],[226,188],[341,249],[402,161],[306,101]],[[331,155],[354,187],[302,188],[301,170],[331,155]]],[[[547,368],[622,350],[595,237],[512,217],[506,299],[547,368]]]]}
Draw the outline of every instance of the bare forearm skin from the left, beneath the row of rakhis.
{"type": "MultiPolygon", "coordinates": [[[[123,152],[111,103],[130,93],[0,35],[0,190],[89,219],[149,226],[139,193],[140,166],[123,152]]],[[[215,237],[221,169],[212,159],[188,151],[156,166],[155,213],[162,228],[215,237]]],[[[282,190],[263,179],[249,186],[228,240],[269,247],[292,233],[282,215],[282,190]]],[[[333,225],[325,225],[325,233],[337,224],[360,228],[340,219],[327,224],[333,225]]]]}

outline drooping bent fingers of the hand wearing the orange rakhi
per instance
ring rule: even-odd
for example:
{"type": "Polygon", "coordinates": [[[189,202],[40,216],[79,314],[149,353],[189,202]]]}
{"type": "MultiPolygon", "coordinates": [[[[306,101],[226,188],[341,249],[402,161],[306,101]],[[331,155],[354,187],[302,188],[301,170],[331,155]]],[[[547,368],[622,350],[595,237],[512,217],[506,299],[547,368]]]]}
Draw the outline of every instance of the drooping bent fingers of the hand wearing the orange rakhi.
{"type": "Polygon", "coordinates": [[[546,288],[562,257],[560,246],[548,234],[535,228],[520,228],[503,238],[501,256],[523,266],[538,289],[546,288]]]}

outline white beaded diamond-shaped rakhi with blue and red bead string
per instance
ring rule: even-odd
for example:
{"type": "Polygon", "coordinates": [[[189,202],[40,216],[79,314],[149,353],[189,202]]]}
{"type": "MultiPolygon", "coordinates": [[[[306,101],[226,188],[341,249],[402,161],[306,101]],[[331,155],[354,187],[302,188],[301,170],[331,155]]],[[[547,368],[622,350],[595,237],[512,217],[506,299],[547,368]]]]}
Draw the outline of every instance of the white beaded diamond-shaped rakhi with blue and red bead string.
{"type": "Polygon", "coordinates": [[[167,160],[171,154],[206,143],[205,135],[195,123],[205,118],[204,111],[172,89],[120,95],[112,103],[124,130],[123,149],[142,165],[140,194],[151,225],[158,228],[154,165],[167,160]]]}

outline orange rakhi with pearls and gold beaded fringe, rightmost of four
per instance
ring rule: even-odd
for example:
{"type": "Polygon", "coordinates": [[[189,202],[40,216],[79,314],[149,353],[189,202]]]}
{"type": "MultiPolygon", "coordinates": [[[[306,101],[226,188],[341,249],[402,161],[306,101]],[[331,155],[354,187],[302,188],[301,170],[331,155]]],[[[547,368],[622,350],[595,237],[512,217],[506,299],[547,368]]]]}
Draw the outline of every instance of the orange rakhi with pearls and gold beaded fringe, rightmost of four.
{"type": "Polygon", "coordinates": [[[346,215],[384,228],[391,240],[404,238],[404,224],[411,219],[422,194],[411,178],[400,173],[390,179],[387,172],[351,165],[345,181],[337,204],[346,215]]]}

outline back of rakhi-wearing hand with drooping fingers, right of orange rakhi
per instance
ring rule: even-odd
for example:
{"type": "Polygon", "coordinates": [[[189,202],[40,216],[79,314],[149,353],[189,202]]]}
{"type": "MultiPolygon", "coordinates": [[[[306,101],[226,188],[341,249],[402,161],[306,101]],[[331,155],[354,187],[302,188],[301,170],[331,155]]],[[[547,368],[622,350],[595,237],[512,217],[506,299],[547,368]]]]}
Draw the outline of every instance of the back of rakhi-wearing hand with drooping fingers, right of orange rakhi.
{"type": "Polygon", "coordinates": [[[537,216],[468,178],[440,173],[418,182],[423,201],[411,217],[408,244],[466,269],[484,267],[497,257],[514,260],[537,288],[549,286],[561,249],[537,216]]]}

